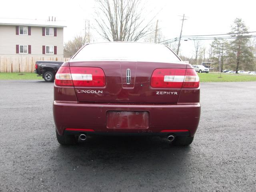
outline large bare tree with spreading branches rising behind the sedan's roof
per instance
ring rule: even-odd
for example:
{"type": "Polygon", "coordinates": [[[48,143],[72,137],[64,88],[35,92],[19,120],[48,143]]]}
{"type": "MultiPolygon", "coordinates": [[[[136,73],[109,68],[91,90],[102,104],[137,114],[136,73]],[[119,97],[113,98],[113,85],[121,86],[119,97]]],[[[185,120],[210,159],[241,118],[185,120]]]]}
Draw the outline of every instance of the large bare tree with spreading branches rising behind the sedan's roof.
{"type": "Polygon", "coordinates": [[[108,41],[137,41],[154,33],[152,19],[142,16],[141,0],[96,0],[99,34],[108,41]]]}

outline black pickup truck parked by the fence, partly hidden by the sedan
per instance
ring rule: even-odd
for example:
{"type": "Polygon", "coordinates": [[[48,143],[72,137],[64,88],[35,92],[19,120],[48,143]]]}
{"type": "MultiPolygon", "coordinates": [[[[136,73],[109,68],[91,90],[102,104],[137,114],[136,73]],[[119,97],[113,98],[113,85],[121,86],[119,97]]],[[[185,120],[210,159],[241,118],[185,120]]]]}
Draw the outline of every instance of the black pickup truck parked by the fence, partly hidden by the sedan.
{"type": "Polygon", "coordinates": [[[62,65],[63,61],[36,61],[37,76],[42,76],[46,82],[53,82],[55,74],[62,65]]]}

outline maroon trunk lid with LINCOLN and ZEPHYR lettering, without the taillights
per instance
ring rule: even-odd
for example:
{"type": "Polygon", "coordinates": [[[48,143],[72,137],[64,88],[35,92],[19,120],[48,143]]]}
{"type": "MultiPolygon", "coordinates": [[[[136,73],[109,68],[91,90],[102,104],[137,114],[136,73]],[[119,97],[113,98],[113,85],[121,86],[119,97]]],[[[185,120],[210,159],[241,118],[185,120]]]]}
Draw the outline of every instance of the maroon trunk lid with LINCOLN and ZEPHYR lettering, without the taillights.
{"type": "MultiPolygon", "coordinates": [[[[152,88],[157,68],[186,69],[186,64],[126,60],[70,62],[74,67],[97,67],[104,71],[104,87],[75,86],[78,102],[177,103],[181,88],[152,88]]],[[[72,71],[72,70],[71,70],[72,71]]]]}

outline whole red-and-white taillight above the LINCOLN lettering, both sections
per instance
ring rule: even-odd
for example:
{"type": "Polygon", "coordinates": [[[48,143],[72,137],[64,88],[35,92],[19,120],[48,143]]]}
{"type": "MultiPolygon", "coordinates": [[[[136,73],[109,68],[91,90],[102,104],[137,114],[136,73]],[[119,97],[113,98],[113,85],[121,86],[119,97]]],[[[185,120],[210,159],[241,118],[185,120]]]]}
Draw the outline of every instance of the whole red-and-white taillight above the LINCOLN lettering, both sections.
{"type": "Polygon", "coordinates": [[[55,76],[57,86],[104,87],[105,74],[98,67],[60,67],[55,76]]]}

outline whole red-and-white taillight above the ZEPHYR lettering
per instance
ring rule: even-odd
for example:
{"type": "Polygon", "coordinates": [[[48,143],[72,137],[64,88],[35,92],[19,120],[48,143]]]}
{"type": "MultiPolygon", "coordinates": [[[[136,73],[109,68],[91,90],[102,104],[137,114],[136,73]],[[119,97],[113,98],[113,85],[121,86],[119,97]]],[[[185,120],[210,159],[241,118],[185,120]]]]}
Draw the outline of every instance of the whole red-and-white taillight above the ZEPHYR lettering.
{"type": "Polygon", "coordinates": [[[199,77],[194,69],[154,70],[151,77],[153,88],[198,88],[199,77]]]}

